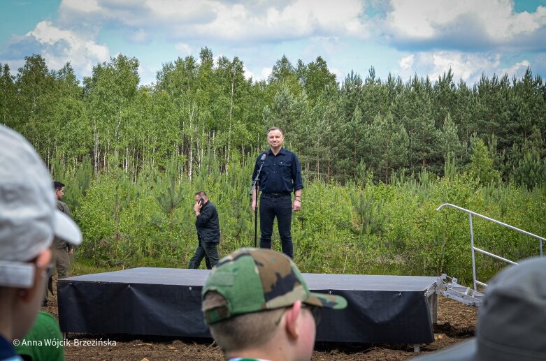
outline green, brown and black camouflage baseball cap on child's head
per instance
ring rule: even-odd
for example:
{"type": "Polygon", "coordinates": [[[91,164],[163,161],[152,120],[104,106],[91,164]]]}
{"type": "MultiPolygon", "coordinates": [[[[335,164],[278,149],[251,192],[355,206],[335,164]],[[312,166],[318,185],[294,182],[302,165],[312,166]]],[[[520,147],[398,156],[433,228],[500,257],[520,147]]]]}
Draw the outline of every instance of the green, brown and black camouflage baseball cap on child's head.
{"type": "Polygon", "coordinates": [[[227,304],[203,306],[208,325],[241,314],[289,307],[296,301],[329,309],[344,309],[347,300],[337,295],[311,293],[298,267],[271,249],[243,248],[222,258],[205,281],[201,297],[220,293],[227,304]]]}

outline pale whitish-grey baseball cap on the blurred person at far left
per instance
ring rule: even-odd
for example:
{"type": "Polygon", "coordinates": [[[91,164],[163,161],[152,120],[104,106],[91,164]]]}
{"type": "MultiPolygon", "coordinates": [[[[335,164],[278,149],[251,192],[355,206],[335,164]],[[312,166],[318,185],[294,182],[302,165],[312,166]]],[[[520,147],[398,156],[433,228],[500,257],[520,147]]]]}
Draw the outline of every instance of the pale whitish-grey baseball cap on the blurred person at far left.
{"type": "Polygon", "coordinates": [[[29,288],[34,264],[56,235],[78,245],[82,233],[55,205],[52,179],[34,147],[0,124],[0,286],[29,288]]]}

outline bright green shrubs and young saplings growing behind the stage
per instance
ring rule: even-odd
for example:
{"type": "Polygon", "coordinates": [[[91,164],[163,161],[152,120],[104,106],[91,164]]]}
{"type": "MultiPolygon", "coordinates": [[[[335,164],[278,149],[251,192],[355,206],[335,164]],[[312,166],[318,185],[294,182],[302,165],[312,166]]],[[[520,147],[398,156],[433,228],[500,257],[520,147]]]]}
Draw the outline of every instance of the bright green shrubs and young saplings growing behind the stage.
{"type": "MultiPolygon", "coordinates": [[[[84,234],[80,260],[98,267],[187,267],[197,245],[192,207],[199,189],[220,214],[220,255],[253,246],[253,160],[233,163],[227,173],[208,171],[217,167],[212,157],[208,162],[191,180],[180,176],[178,165],[165,172],[143,170],[136,179],[120,171],[92,180],[85,193],[78,193],[74,209],[84,234]]],[[[76,177],[76,172],[65,174],[76,177]]],[[[292,217],[295,262],[303,272],[447,273],[470,283],[468,214],[448,207],[436,212],[447,202],[546,234],[546,190],[540,186],[482,186],[466,173],[438,178],[426,172],[419,180],[393,178],[389,185],[306,182],[301,212],[292,217]]],[[[531,237],[477,216],[473,227],[481,249],[512,260],[538,254],[538,241],[531,237]]],[[[280,251],[276,226],[273,248],[280,251]]],[[[481,254],[476,260],[481,281],[504,266],[481,254]]]]}

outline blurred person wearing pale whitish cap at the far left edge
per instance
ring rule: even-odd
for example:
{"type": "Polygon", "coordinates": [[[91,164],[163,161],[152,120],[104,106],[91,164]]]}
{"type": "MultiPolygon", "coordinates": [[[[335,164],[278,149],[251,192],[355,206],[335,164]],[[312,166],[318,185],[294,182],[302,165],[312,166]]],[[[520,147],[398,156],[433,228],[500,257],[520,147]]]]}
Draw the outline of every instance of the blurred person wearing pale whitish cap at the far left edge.
{"type": "Polygon", "coordinates": [[[57,210],[51,182],[29,142],[0,125],[0,360],[20,360],[13,341],[38,314],[53,237],[82,240],[76,223],[57,210]]]}

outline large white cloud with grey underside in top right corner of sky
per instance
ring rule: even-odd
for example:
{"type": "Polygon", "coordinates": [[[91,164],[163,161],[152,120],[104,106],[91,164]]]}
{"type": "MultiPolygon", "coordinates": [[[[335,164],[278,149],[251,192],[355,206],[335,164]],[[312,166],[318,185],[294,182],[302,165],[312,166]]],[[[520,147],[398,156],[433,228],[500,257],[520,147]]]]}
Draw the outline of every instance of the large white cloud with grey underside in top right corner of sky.
{"type": "MultiPolygon", "coordinates": [[[[516,13],[510,0],[392,0],[385,28],[394,43],[447,40],[438,47],[459,45],[517,45],[521,36],[540,36],[546,27],[546,8],[516,13]]],[[[544,44],[535,46],[543,47],[544,44]]]]}

